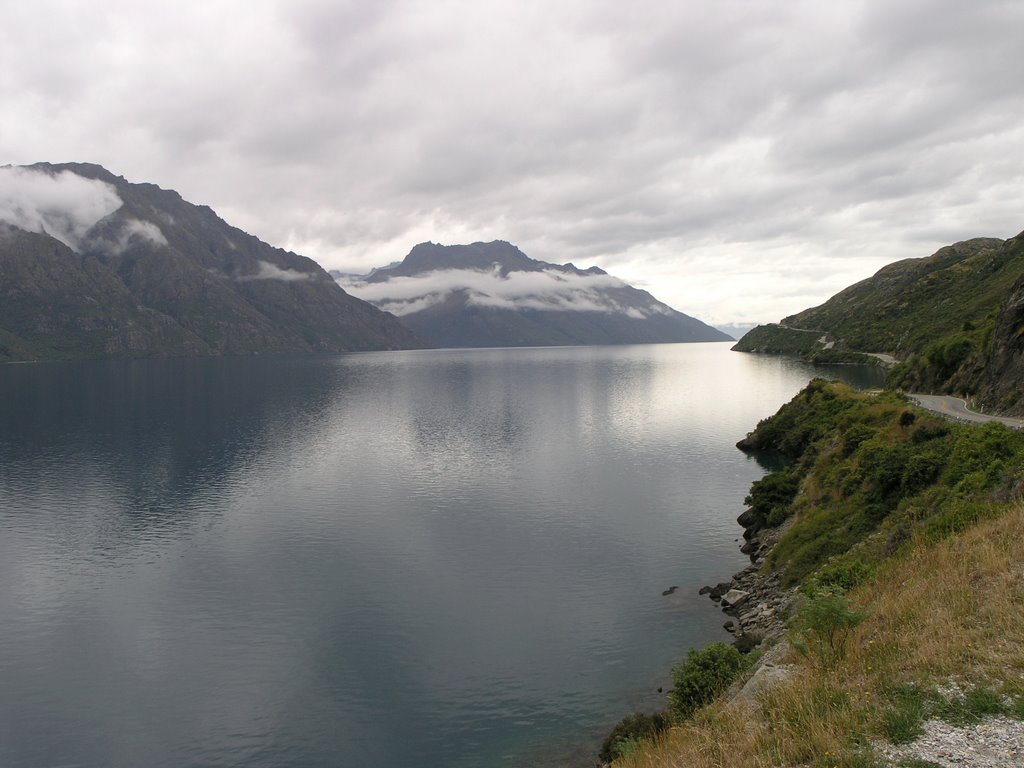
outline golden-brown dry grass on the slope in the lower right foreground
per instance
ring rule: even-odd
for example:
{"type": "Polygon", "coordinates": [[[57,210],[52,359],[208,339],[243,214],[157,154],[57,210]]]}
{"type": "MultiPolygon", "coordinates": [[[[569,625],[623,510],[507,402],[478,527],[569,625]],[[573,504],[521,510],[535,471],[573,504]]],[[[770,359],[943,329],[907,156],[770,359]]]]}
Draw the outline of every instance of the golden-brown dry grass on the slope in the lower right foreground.
{"type": "Polygon", "coordinates": [[[796,654],[794,674],[752,708],[713,705],[629,768],[872,764],[894,690],[947,681],[1024,694],[1024,506],[940,543],[919,542],[851,595],[868,613],[831,669],[796,654]]]}

